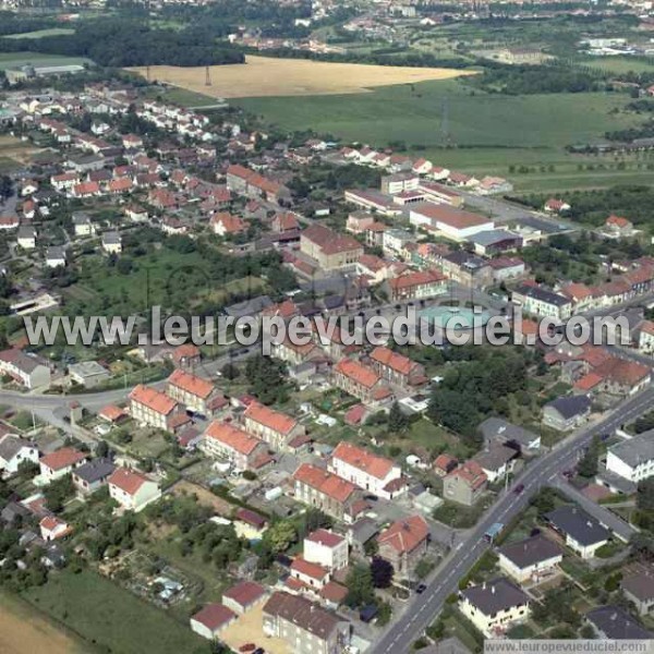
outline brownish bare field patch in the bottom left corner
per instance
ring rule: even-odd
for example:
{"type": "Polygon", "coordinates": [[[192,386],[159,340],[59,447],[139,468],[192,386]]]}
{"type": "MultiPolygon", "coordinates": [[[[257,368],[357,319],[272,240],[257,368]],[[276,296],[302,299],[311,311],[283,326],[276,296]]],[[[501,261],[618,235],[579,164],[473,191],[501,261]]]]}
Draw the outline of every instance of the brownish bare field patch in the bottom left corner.
{"type": "Polygon", "coordinates": [[[82,654],[92,652],[37,615],[33,607],[7,593],[0,594],[0,652],[7,654],[82,654]]]}

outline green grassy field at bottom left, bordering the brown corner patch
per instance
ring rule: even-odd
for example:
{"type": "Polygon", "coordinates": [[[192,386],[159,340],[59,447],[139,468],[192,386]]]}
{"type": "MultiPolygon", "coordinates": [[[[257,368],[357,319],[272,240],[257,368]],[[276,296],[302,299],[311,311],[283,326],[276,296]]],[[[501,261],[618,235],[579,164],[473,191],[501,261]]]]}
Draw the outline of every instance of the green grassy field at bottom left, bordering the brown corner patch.
{"type": "Polygon", "coordinates": [[[113,654],[179,654],[205,642],[162,610],[88,570],[51,574],[44,586],[29,589],[23,596],[113,654]]]}

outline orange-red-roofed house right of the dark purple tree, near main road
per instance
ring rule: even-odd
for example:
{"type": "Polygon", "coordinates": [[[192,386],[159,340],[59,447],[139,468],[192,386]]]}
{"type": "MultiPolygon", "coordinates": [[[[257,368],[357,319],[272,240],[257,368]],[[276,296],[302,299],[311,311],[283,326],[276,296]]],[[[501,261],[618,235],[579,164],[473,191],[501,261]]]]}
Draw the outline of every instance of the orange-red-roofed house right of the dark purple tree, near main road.
{"type": "Polygon", "coordinates": [[[378,556],[393,567],[399,577],[410,577],[429,546],[429,526],[422,516],[393,522],[378,536],[378,556]]]}

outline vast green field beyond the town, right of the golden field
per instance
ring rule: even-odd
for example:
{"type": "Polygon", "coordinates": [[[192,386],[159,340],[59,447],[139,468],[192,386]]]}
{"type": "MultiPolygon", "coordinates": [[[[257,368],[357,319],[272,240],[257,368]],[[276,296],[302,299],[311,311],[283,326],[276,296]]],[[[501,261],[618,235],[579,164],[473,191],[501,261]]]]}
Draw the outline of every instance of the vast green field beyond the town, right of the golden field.
{"type": "MultiPolygon", "coordinates": [[[[638,124],[618,94],[487,95],[457,81],[424,82],[344,96],[230,100],[284,130],[313,129],[375,147],[403,142],[435,165],[477,174],[509,175],[518,191],[562,191],[615,183],[652,183],[652,171],[610,169],[611,157],[570,155],[566,145],[602,141],[605,132],[638,124]],[[447,134],[444,136],[444,107],[447,134]],[[606,170],[580,171],[603,162],[606,170]],[[524,174],[509,166],[536,168],[524,174]],[[541,167],[554,170],[541,171],[541,167]]],[[[644,160],[644,159],[643,159],[644,160]]],[[[653,159],[654,160],[654,159],[653,159]]]]}

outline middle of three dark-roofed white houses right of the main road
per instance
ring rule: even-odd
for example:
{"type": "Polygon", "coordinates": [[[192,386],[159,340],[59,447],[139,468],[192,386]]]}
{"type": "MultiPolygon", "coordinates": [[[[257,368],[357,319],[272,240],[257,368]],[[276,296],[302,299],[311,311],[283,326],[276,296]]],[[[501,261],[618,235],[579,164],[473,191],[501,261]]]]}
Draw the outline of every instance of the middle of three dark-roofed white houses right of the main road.
{"type": "Polygon", "coordinates": [[[564,559],[561,547],[543,534],[508,543],[497,555],[499,569],[521,584],[552,577],[564,559]]]}

